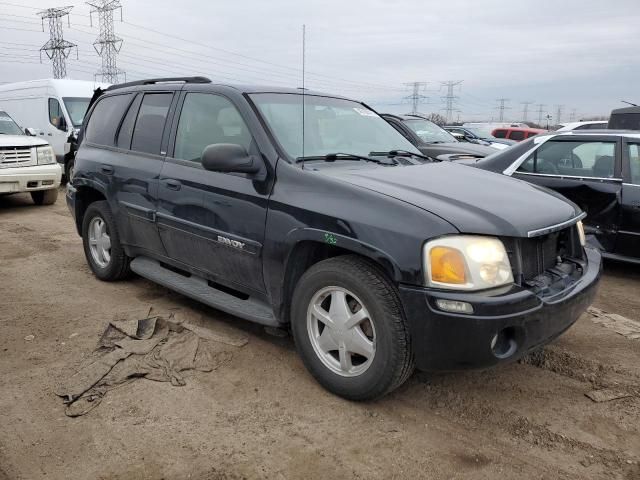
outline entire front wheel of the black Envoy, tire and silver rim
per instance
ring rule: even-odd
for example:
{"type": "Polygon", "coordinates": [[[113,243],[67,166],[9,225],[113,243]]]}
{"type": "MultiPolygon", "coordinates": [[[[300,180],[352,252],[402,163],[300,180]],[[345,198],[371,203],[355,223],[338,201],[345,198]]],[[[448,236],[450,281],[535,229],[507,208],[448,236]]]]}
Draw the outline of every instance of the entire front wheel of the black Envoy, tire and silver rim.
{"type": "Polygon", "coordinates": [[[360,257],[335,257],[311,267],[294,292],[291,326],[307,369],[341,397],[380,397],[413,371],[397,291],[375,264],[360,257]]]}

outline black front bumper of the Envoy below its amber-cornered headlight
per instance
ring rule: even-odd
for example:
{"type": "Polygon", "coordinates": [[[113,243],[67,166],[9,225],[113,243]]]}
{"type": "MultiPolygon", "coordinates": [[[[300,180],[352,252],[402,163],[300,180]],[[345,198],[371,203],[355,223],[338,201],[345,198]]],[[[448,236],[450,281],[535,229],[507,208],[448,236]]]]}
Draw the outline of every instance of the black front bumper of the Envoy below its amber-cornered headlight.
{"type": "Polygon", "coordinates": [[[494,296],[400,287],[416,366],[420,370],[489,367],[517,360],[558,337],[573,325],[596,294],[602,258],[596,249],[587,247],[585,251],[582,276],[549,297],[521,287],[494,296]],[[439,298],[470,303],[475,313],[441,311],[436,306],[439,298]],[[496,348],[496,338],[498,347],[506,338],[510,348],[496,348]]]}

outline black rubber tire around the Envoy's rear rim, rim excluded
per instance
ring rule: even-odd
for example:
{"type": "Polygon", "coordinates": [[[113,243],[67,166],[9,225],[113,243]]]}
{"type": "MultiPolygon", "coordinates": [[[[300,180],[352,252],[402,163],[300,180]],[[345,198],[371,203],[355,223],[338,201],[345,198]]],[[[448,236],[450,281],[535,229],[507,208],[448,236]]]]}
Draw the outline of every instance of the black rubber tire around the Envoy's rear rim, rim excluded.
{"type": "Polygon", "coordinates": [[[82,219],[82,244],[84,246],[84,255],[87,258],[87,263],[91,268],[93,274],[100,280],[105,282],[113,282],[127,278],[131,274],[129,264],[131,258],[129,258],[122,248],[120,243],[120,235],[116,227],[116,221],[111,213],[109,204],[102,200],[93,202],[87,208],[82,219]],[[106,224],[107,233],[111,239],[111,258],[106,266],[100,266],[91,254],[89,245],[89,225],[96,217],[101,218],[106,224]]]}

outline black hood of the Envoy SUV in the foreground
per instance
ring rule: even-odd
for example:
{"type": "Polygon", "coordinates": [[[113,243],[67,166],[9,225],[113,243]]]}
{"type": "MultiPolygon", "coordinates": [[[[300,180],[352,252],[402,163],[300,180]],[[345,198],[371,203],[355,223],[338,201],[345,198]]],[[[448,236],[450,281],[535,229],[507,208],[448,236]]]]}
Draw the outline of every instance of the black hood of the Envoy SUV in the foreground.
{"type": "Polygon", "coordinates": [[[462,233],[527,237],[581,212],[544,187],[450,162],[323,173],[431,212],[462,233]]]}

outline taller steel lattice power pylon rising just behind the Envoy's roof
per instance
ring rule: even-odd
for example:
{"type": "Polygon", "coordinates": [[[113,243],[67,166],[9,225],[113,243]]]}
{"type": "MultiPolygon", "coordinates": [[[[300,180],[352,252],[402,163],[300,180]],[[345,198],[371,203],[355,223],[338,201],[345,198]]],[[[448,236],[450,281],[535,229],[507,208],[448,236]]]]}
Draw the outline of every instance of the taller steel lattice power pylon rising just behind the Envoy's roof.
{"type": "Polygon", "coordinates": [[[102,57],[102,68],[96,75],[101,76],[103,82],[118,83],[120,74],[124,74],[126,80],[125,72],[119,70],[116,64],[118,52],[122,48],[122,39],[116,36],[113,28],[114,10],[120,9],[120,21],[122,21],[122,4],[120,0],[95,0],[93,3],[87,2],[87,5],[93,7],[93,10],[89,13],[91,22],[93,22],[91,15],[93,13],[98,14],[98,26],[100,28],[100,34],[96,41],[93,42],[93,48],[102,57]]]}

